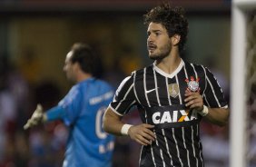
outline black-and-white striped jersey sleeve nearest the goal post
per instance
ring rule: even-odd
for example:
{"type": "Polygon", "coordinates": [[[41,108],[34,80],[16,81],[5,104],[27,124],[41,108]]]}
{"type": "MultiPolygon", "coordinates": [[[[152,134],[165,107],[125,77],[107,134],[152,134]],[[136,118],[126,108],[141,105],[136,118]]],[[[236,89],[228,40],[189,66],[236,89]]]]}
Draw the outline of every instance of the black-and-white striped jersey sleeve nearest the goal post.
{"type": "Polygon", "coordinates": [[[212,108],[227,108],[228,103],[224,98],[222,88],[212,72],[207,68],[205,68],[205,83],[206,87],[202,94],[204,103],[212,108]]]}

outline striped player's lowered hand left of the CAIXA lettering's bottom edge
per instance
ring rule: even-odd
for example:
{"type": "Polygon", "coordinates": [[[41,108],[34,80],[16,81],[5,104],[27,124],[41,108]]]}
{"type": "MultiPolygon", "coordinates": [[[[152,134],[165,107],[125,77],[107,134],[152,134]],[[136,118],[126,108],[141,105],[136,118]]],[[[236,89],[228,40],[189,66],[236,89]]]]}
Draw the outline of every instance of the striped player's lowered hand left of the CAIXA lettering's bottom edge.
{"type": "Polygon", "coordinates": [[[143,145],[152,144],[155,139],[152,131],[153,127],[153,125],[146,123],[133,125],[129,129],[128,134],[135,142],[139,142],[143,145]]]}

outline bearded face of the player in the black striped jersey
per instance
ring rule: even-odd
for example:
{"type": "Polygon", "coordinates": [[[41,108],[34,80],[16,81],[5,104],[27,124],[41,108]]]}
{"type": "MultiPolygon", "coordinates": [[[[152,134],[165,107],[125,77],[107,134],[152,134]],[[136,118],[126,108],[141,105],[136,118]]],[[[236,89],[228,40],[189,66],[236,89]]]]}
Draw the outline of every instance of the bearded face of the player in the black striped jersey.
{"type": "Polygon", "coordinates": [[[160,60],[171,53],[171,39],[164,26],[152,22],[148,26],[147,34],[147,48],[151,59],[160,60]]]}

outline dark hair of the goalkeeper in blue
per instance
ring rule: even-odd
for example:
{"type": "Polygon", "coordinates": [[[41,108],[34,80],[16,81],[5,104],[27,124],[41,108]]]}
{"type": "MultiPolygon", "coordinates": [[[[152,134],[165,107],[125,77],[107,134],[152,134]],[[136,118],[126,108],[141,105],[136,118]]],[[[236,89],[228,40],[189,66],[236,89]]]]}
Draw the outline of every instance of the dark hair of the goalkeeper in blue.
{"type": "Polygon", "coordinates": [[[89,44],[75,43],[71,47],[71,51],[73,51],[71,57],[73,64],[77,62],[85,73],[93,74],[94,77],[100,77],[99,66],[101,61],[99,55],[94,52],[89,44]]]}

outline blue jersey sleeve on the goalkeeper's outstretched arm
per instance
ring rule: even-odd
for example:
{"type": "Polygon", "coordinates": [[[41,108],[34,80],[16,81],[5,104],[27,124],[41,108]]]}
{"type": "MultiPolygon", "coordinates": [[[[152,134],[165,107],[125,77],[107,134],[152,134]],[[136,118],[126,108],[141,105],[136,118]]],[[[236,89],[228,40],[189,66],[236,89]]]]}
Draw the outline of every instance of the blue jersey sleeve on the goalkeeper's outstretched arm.
{"type": "Polygon", "coordinates": [[[58,106],[64,111],[64,114],[61,114],[61,119],[67,126],[74,123],[75,119],[80,115],[82,98],[79,86],[73,86],[69,93],[64,96],[64,99],[58,103],[58,106]]]}

